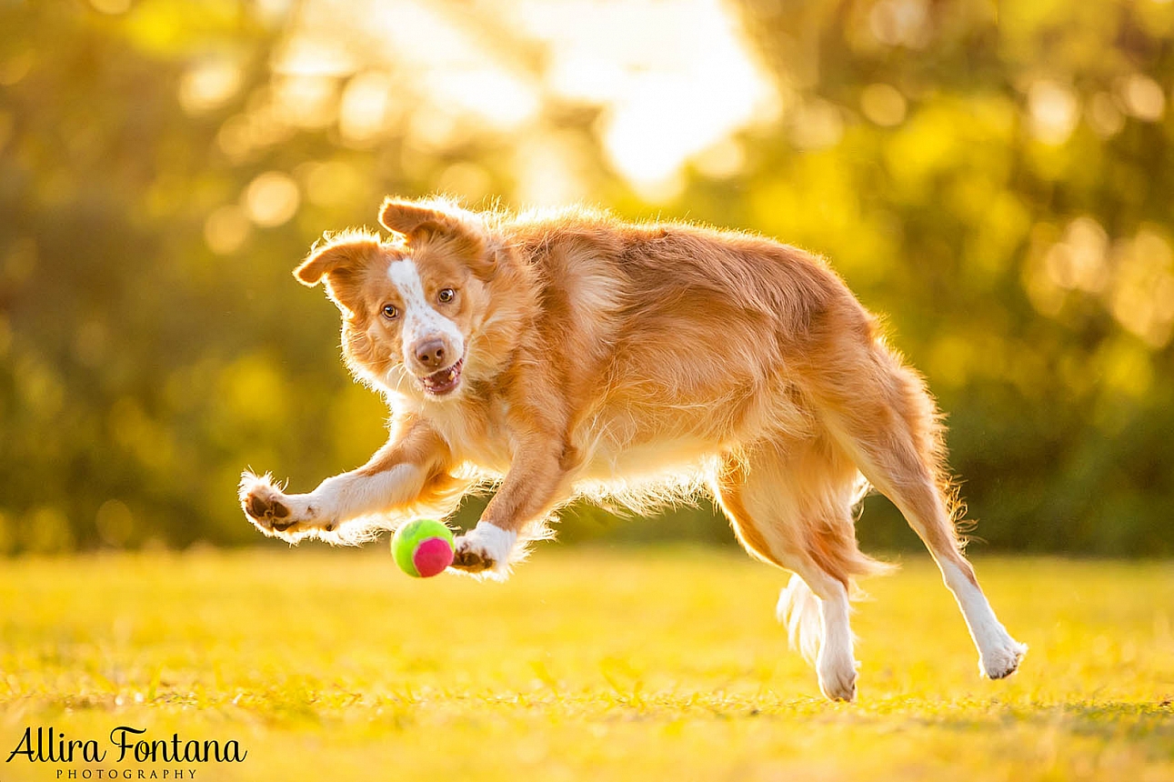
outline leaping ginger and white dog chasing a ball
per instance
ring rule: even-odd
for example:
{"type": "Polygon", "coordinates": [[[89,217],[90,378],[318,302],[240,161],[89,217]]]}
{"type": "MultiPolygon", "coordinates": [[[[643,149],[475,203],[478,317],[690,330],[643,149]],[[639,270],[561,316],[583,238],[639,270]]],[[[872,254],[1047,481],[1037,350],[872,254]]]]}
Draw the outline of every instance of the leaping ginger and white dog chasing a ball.
{"type": "Polygon", "coordinates": [[[849,599],[889,566],[856,542],[876,487],[936,559],[980,673],[1026,652],[963,555],[944,426],[923,378],[818,257],[745,232],[583,208],[474,213],[387,198],[295,275],[342,312],[351,372],[385,395],[371,459],[288,494],[245,472],[268,535],[357,542],[497,485],[453,568],[504,577],[576,497],[637,512],[708,491],[753,557],[792,573],[777,615],[832,700],[856,695],[849,599]]]}

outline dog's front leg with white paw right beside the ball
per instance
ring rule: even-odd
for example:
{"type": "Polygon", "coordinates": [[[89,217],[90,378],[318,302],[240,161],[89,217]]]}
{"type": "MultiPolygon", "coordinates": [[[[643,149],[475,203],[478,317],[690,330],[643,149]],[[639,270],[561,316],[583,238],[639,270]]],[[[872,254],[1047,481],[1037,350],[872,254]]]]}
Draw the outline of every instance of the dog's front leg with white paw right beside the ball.
{"type": "Polygon", "coordinates": [[[574,464],[572,449],[561,440],[529,438],[522,441],[481,520],[457,538],[452,566],[471,573],[495,571],[505,574],[522,528],[566,499],[574,464]]]}

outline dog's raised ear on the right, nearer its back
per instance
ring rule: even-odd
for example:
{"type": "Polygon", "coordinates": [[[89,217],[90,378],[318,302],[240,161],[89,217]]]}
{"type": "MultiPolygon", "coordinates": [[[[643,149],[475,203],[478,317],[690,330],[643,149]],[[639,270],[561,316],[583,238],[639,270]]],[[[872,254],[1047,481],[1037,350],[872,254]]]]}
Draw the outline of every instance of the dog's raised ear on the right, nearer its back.
{"type": "Polygon", "coordinates": [[[498,252],[491,249],[488,231],[481,218],[441,198],[409,201],[387,197],[379,208],[379,222],[396,234],[403,234],[409,247],[443,244],[460,255],[481,279],[493,276],[498,252]]]}

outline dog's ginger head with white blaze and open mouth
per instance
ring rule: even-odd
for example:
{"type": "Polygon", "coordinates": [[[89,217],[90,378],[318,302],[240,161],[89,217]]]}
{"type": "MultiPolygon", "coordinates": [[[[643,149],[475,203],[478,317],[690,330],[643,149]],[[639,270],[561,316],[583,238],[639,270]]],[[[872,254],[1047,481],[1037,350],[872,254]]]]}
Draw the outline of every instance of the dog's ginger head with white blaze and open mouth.
{"type": "Polygon", "coordinates": [[[478,343],[493,289],[514,264],[478,215],[444,201],[387,198],[379,222],[391,241],[369,231],[329,237],[295,276],[324,282],[343,314],[352,371],[429,400],[457,397],[499,359],[500,345],[478,343]]]}

